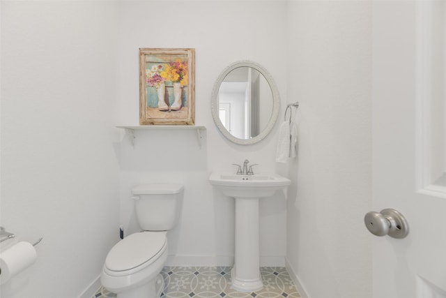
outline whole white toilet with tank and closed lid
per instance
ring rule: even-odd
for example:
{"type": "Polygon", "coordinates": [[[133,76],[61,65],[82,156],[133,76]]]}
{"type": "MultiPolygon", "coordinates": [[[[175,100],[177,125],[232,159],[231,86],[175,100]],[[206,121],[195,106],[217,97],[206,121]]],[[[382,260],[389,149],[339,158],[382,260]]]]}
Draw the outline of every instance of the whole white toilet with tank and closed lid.
{"type": "Polygon", "coordinates": [[[164,288],[160,274],[167,259],[167,231],[180,216],[183,185],[144,184],[132,189],[143,232],[119,241],[105,259],[100,281],[118,298],[157,298],[164,288]]]}

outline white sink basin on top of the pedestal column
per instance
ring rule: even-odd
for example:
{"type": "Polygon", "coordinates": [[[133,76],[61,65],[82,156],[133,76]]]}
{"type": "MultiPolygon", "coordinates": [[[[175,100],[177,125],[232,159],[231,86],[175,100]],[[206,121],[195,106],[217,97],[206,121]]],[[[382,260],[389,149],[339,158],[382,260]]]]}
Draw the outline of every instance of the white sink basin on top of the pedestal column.
{"type": "Polygon", "coordinates": [[[209,182],[224,195],[234,198],[265,198],[285,188],[291,181],[279,174],[238,175],[213,172],[209,182]]]}

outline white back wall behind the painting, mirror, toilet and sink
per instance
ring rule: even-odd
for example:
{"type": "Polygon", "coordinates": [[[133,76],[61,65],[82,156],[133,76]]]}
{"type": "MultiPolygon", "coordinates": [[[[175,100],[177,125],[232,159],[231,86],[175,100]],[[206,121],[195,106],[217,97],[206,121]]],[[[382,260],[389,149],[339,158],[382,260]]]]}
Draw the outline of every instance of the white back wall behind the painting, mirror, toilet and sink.
{"type": "MultiPolygon", "coordinates": [[[[248,158],[258,171],[275,170],[275,133],[250,146],[222,137],[210,113],[215,80],[229,64],[249,59],[266,67],[286,98],[286,2],[282,1],[125,1],[119,7],[118,117],[116,124],[138,124],[138,48],[194,47],[196,50],[196,124],[206,126],[199,149],[197,133],[138,132],[135,148],[116,144],[121,166],[121,223],[126,234],[137,230],[129,200],[134,184],[176,181],[185,184],[183,214],[169,233],[169,264],[231,265],[233,199],[214,191],[213,170],[235,171],[232,163],[248,158]],[[167,16],[168,20],[167,20],[167,16]],[[253,26],[255,24],[255,26],[253,26]],[[249,42],[247,42],[249,36],[249,42]]],[[[284,265],[286,203],[284,195],[263,200],[263,264],[284,265]]]]}

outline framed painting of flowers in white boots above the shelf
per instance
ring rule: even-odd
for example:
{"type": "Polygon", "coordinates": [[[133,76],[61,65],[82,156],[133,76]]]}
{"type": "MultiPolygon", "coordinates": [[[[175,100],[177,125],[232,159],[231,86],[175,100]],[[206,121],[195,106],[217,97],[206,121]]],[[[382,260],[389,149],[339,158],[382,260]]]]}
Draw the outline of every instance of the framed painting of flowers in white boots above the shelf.
{"type": "Polygon", "coordinates": [[[195,50],[139,49],[139,124],[194,125],[195,50]]]}

